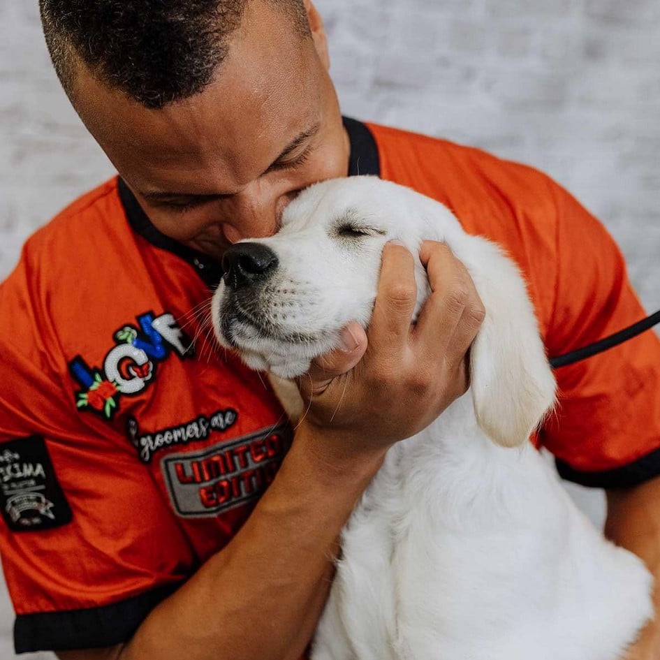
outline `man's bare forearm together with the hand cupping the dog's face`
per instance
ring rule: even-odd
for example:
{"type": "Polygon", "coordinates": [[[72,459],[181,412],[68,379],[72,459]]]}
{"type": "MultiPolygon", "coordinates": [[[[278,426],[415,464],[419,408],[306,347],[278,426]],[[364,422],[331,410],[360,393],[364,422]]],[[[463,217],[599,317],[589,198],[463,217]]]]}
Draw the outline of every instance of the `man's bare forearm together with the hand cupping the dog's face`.
{"type": "Polygon", "coordinates": [[[432,294],[418,324],[411,328],[412,255],[388,245],[368,346],[354,328],[355,348],[343,358],[335,354],[301,383],[309,402],[305,420],[230,543],[160,603],[128,643],[61,653],[62,659],[300,658],[330,589],[339,532],[386,451],[467,388],[464,356],[483,305],[446,246],[427,242],[420,257],[432,294]],[[333,370],[337,377],[328,378],[333,370]]]}

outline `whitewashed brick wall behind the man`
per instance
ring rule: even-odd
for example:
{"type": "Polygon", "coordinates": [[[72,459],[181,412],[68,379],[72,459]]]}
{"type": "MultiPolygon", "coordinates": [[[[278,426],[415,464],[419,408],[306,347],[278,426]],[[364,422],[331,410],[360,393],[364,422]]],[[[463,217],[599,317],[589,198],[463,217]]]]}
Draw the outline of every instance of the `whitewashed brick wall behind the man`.
{"type": "MultiPolygon", "coordinates": [[[[547,171],[606,223],[660,307],[660,0],[317,5],[346,114],[547,171]]],[[[2,278],[29,233],[112,173],[51,71],[36,0],[0,0],[0,147],[2,278]]]]}

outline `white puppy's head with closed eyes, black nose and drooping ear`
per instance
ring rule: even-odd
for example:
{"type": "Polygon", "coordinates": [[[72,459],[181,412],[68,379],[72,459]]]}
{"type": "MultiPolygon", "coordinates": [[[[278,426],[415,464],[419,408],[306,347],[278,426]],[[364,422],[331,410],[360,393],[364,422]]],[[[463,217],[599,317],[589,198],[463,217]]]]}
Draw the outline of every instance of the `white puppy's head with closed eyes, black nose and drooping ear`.
{"type": "Polygon", "coordinates": [[[464,261],[487,315],[489,305],[507,307],[499,307],[487,318],[473,347],[473,390],[485,389],[481,397],[474,393],[475,407],[479,423],[494,441],[508,446],[525,441],[554,400],[554,380],[518,272],[492,244],[464,234],[446,207],[375,177],[333,179],[311,186],[286,207],[277,235],[242,241],[226,251],[225,275],[212,303],[220,344],[236,349],[253,369],[284,378],[305,373],[311,360],[337,346],[346,323],[358,321],[366,328],[376,298],[381,251],[395,238],[416,256],[415,314],[429,293],[425,270],[417,258],[425,239],[446,240],[464,261]],[[484,251],[488,253],[487,263],[483,261],[484,251]],[[503,262],[505,281],[490,281],[501,275],[503,262]],[[512,277],[518,281],[513,293],[508,281],[512,277]],[[500,289],[508,291],[500,295],[500,289]],[[516,302],[516,295],[522,301],[516,302]],[[512,297],[513,302],[509,300],[512,297]],[[521,309],[525,312],[522,323],[521,309]],[[515,323],[520,323],[520,332],[513,329],[511,314],[518,317],[515,323]],[[502,322],[492,327],[495,316],[502,322]],[[531,348],[533,365],[515,367],[529,351],[520,355],[520,346],[509,336],[512,332],[524,336],[522,346],[531,348]],[[498,333],[506,337],[500,340],[498,333]],[[504,344],[506,355],[501,349],[504,344]],[[511,355],[510,362],[509,353],[516,352],[518,358],[511,355]],[[484,353],[483,357],[479,353],[484,353]],[[499,363],[503,360],[511,376],[508,380],[518,381],[514,387],[509,387],[508,380],[501,381],[499,363]],[[531,376],[532,381],[539,381],[536,372],[543,372],[538,388],[526,379],[531,376]],[[538,390],[539,400],[529,411],[529,397],[511,406],[494,396],[493,390],[501,392],[507,402],[519,391],[525,399],[525,393],[538,390]],[[497,408],[503,402],[517,418],[525,419],[513,425],[500,423],[503,411],[497,408]],[[485,410],[480,410],[484,406],[485,410]]]}

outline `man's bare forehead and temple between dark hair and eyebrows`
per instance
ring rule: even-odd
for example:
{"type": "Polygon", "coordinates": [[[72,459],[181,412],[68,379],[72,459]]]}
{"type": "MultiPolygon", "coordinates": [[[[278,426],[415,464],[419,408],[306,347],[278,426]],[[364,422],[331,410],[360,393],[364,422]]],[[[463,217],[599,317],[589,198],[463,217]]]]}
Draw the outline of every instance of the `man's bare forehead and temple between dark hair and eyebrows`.
{"type": "Polygon", "coordinates": [[[270,24],[246,17],[213,82],[158,110],[80,77],[80,115],[120,173],[140,189],[210,170],[240,184],[318,122],[314,45],[275,15],[270,24]]]}

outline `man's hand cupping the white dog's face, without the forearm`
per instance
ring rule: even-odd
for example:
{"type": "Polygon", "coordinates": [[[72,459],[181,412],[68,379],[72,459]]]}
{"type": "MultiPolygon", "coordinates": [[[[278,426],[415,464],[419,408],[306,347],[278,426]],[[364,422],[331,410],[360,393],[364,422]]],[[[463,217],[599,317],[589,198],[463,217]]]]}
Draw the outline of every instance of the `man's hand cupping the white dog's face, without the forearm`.
{"type": "Polygon", "coordinates": [[[368,332],[351,323],[346,351],[318,360],[300,380],[309,404],[303,423],[323,434],[324,450],[332,450],[328,432],[336,432],[336,450],[344,455],[386,450],[423,430],[467,390],[467,355],[483,304],[446,244],[423,243],[420,259],[432,293],[416,325],[413,256],[389,243],[368,332]]]}

